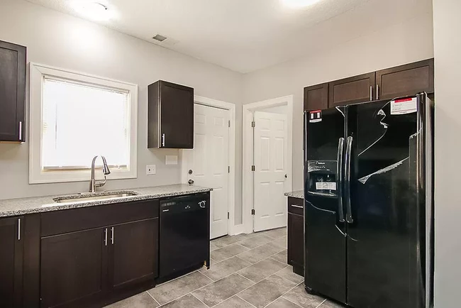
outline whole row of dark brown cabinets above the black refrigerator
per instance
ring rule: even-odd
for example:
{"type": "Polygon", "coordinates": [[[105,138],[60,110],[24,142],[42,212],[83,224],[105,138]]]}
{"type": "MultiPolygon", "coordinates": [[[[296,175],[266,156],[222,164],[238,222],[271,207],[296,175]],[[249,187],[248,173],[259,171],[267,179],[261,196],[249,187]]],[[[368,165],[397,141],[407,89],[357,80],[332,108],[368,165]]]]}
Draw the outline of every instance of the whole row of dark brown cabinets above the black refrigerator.
{"type": "Polygon", "coordinates": [[[434,59],[304,88],[304,110],[434,92],[434,59]]]}

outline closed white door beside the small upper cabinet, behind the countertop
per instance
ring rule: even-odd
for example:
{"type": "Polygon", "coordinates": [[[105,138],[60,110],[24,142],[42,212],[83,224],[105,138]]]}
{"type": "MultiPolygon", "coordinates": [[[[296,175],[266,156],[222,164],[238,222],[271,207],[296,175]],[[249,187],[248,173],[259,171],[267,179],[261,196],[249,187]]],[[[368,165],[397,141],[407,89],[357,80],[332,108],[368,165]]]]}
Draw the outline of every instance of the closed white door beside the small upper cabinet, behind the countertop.
{"type": "Polygon", "coordinates": [[[184,150],[187,180],[211,187],[211,238],[228,234],[229,111],[194,105],[194,149],[184,150]]]}

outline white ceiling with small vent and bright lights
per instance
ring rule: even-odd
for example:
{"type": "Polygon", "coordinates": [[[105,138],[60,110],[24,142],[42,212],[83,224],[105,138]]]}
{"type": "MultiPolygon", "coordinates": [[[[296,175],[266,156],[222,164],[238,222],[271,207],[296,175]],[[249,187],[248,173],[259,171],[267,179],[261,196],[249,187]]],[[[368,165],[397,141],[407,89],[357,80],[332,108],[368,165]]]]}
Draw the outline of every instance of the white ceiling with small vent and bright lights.
{"type": "Polygon", "coordinates": [[[28,0],[89,19],[75,1],[113,14],[95,21],[136,38],[236,72],[252,72],[318,53],[406,18],[430,13],[432,0],[321,0],[290,9],[282,0],[28,0]]]}

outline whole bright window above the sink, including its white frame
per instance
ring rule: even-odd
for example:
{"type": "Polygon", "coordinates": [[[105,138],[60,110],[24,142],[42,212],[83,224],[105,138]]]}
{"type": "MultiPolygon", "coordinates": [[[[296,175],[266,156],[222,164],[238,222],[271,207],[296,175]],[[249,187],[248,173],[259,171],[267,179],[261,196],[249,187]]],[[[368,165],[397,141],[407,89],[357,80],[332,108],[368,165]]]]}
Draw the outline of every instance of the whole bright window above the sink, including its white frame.
{"type": "Polygon", "coordinates": [[[29,182],[87,181],[96,155],[136,177],[137,105],[135,84],[31,63],[29,182]]]}

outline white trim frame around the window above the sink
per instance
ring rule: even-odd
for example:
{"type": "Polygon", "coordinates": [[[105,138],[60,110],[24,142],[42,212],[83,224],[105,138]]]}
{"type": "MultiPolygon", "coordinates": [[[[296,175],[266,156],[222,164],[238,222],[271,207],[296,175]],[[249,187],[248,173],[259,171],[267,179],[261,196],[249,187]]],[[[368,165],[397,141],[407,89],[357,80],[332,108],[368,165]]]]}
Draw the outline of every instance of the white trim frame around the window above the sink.
{"type": "MultiPolygon", "coordinates": [[[[122,90],[130,94],[130,167],[129,170],[113,170],[108,180],[132,179],[138,176],[138,85],[121,82],[106,77],[89,75],[82,72],[65,70],[59,67],[30,62],[29,97],[29,184],[80,182],[89,180],[89,170],[42,172],[40,167],[42,139],[42,99],[43,79],[45,76],[57,77],[76,82],[95,84],[96,86],[122,90]]],[[[110,162],[109,162],[110,163],[110,162]]]]}

